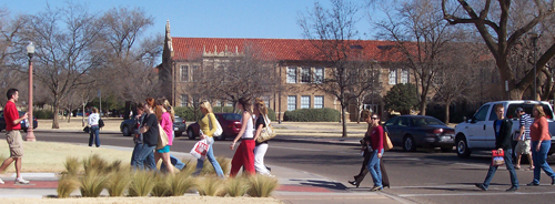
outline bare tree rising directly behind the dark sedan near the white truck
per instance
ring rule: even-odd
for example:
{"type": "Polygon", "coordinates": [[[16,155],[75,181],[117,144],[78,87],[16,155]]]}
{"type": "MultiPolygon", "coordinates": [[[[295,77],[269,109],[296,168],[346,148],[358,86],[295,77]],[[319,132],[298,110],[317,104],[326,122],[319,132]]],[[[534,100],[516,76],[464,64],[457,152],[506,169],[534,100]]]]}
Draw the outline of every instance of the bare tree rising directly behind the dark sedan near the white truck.
{"type": "MultiPolygon", "coordinates": [[[[434,79],[445,69],[447,43],[453,30],[443,21],[441,4],[434,0],[408,0],[394,3],[387,20],[374,23],[379,39],[395,42],[394,51],[402,53],[403,62],[412,70],[418,88],[418,114],[425,115],[427,100],[434,90],[434,79]]],[[[384,8],[386,11],[387,8],[384,8]]]]}

